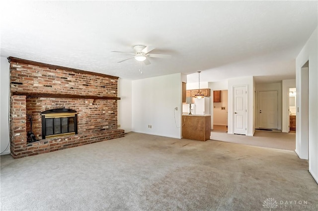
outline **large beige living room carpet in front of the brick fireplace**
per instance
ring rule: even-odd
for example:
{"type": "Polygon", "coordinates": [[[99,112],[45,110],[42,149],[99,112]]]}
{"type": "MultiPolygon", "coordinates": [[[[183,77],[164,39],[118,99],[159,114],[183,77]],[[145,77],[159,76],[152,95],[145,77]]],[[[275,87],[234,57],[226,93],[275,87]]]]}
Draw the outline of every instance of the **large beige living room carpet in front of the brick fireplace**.
{"type": "Polygon", "coordinates": [[[16,160],[0,158],[1,211],[318,208],[308,162],[289,150],[129,133],[16,160]]]}

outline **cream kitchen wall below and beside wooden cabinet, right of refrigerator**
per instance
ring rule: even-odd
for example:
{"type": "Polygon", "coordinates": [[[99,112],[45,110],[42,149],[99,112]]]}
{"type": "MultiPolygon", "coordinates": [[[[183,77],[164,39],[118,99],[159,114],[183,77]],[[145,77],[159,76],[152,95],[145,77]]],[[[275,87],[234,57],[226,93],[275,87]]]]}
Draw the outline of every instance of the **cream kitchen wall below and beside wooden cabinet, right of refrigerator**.
{"type": "Polygon", "coordinates": [[[215,102],[213,105],[213,124],[227,126],[229,109],[228,90],[221,90],[221,102],[215,102]],[[222,110],[222,107],[225,107],[225,110],[222,110]]]}

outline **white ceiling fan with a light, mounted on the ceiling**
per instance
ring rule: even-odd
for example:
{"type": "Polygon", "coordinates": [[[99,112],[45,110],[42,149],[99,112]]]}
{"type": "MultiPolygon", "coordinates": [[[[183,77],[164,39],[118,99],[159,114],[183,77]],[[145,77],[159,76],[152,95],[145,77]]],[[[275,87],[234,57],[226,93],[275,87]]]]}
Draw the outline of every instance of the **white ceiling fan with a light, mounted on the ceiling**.
{"type": "Polygon", "coordinates": [[[144,45],[135,45],[133,47],[135,53],[131,52],[122,52],[122,51],[111,51],[111,52],[117,52],[117,53],[125,53],[125,54],[133,54],[134,56],[129,57],[127,59],[121,60],[117,63],[124,62],[126,60],[130,60],[135,58],[138,62],[144,62],[145,65],[150,65],[150,61],[148,60],[148,57],[156,57],[156,58],[170,58],[170,55],[164,55],[164,54],[149,54],[152,50],[155,49],[153,46],[144,46],[144,45]]]}

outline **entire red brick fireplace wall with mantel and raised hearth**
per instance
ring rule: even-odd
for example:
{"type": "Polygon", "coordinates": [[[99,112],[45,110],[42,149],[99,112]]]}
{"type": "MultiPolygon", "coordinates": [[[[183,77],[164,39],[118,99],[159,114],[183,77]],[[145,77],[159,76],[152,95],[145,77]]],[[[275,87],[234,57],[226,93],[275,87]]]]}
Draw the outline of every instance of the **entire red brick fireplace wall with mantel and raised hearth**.
{"type": "MultiPolygon", "coordinates": [[[[117,129],[117,100],[120,100],[117,97],[118,77],[13,57],[8,60],[10,141],[14,158],[124,136],[124,131],[117,129]],[[77,132],[68,129],[70,132],[61,134],[59,131],[59,127],[61,131],[67,130],[66,126],[63,128],[63,121],[71,121],[70,125],[73,126],[72,116],[62,115],[62,120],[48,116],[55,121],[56,131],[43,139],[42,119],[50,110],[76,112],[77,132]],[[33,142],[31,132],[35,138],[33,142]]],[[[48,119],[47,123],[50,124],[51,120],[48,119]]]]}

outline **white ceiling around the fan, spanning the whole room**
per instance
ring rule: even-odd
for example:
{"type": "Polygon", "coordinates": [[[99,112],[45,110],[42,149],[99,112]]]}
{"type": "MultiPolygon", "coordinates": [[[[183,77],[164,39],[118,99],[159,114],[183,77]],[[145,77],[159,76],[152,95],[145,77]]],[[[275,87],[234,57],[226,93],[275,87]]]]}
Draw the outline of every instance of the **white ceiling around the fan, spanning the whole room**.
{"type": "Polygon", "coordinates": [[[183,72],[188,82],[255,75],[295,78],[295,58],[317,27],[318,1],[1,1],[2,57],[126,79],[183,72]],[[117,63],[152,45],[142,66],[117,63]],[[193,73],[193,74],[191,74],[193,73]]]}

